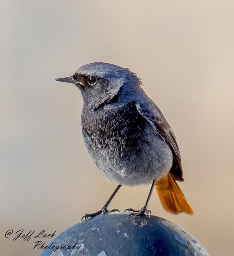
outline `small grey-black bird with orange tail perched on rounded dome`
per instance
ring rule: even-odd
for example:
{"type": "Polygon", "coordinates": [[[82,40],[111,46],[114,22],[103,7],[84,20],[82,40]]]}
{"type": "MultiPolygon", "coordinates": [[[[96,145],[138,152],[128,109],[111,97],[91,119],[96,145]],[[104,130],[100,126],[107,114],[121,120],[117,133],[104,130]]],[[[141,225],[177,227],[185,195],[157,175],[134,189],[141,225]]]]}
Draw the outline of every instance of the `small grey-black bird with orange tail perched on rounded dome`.
{"type": "Polygon", "coordinates": [[[84,144],[104,178],[118,184],[101,210],[85,214],[84,219],[119,211],[108,210],[108,205],[122,185],[150,183],[146,204],[140,210],[126,209],[131,212],[129,216],[150,216],[148,202],[154,187],[166,211],[193,214],[177,183],[184,179],[176,136],[146,95],[136,73],[114,64],[93,62],[81,66],[72,76],[55,80],[80,89],[84,144]]]}

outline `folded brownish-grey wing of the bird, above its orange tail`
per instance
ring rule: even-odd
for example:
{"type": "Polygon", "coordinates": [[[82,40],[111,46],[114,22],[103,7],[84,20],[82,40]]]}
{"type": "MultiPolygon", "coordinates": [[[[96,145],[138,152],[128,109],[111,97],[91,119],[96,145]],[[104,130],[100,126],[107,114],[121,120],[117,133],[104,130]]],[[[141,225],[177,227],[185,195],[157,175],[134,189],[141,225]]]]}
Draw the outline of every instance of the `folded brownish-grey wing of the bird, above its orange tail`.
{"type": "MultiPolygon", "coordinates": [[[[153,103],[153,102],[152,102],[153,103]]],[[[173,164],[171,172],[176,180],[184,181],[181,165],[180,150],[176,142],[176,136],[168,124],[166,118],[156,104],[137,103],[138,112],[154,127],[165,142],[170,146],[173,154],[173,164]]]]}

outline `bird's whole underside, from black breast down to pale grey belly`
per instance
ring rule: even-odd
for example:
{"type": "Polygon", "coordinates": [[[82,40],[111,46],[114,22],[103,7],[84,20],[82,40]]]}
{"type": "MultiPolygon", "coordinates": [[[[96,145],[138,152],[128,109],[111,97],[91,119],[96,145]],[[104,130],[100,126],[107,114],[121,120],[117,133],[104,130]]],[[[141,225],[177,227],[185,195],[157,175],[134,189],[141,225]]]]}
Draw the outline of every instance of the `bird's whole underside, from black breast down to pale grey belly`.
{"type": "Polygon", "coordinates": [[[82,112],[82,134],[92,160],[107,180],[134,186],[165,175],[172,153],[134,103],[82,112]]]}

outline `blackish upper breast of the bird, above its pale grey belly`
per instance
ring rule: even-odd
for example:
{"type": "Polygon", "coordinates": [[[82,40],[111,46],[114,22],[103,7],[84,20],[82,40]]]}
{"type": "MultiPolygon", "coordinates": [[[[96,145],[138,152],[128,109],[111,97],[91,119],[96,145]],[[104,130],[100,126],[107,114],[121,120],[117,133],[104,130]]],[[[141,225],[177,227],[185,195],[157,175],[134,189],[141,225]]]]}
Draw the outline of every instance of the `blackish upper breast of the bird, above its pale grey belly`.
{"type": "Polygon", "coordinates": [[[132,103],[82,113],[82,133],[89,150],[101,148],[118,154],[140,150],[145,120],[132,103]]]}

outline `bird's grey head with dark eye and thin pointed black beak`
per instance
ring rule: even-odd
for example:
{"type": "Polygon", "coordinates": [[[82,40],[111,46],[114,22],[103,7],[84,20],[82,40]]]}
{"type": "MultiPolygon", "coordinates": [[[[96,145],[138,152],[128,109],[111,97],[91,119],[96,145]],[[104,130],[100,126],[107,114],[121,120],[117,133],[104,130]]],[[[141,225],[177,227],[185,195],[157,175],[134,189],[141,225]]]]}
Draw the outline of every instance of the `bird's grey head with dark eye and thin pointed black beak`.
{"type": "Polygon", "coordinates": [[[72,76],[57,78],[56,81],[76,85],[82,94],[84,104],[97,108],[108,104],[126,84],[127,94],[140,86],[139,78],[127,68],[109,63],[94,62],[81,66],[72,76]]]}

